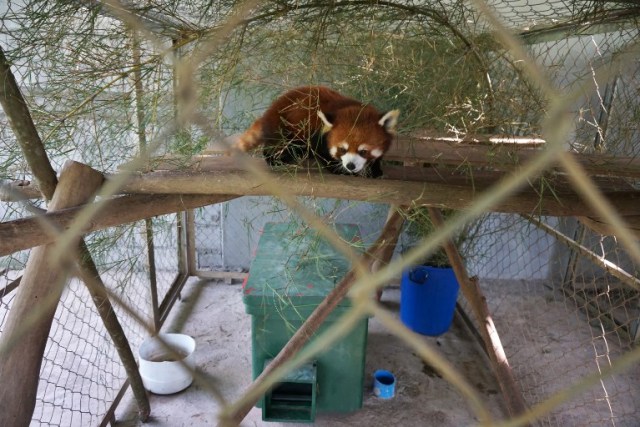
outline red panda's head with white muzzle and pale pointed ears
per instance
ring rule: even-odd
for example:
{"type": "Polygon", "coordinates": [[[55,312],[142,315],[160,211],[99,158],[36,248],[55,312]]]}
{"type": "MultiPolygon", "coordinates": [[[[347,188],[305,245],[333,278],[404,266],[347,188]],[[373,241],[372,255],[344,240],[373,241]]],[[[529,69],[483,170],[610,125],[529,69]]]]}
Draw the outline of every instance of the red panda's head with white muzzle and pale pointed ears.
{"type": "Polygon", "coordinates": [[[397,110],[381,116],[369,109],[346,112],[350,114],[340,111],[331,122],[322,112],[318,114],[325,125],[329,154],[340,161],[346,173],[360,173],[368,163],[382,157],[395,134],[397,110]]]}

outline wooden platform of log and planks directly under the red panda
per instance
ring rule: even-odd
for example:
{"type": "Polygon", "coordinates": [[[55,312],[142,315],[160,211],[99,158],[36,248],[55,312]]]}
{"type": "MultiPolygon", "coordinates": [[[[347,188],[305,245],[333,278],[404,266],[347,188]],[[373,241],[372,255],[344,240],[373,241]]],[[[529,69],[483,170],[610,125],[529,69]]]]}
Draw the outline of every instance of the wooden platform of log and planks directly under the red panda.
{"type": "MultiPolygon", "coordinates": [[[[517,173],[544,149],[535,138],[451,137],[403,138],[385,156],[383,179],[338,176],[290,167],[271,175],[278,189],[301,196],[330,197],[402,205],[465,209],[500,179],[517,173]]],[[[640,161],[601,154],[574,154],[606,198],[634,230],[640,230],[640,161]]],[[[135,173],[126,193],[269,195],[268,179],[251,172],[259,159],[230,157],[208,151],[184,159],[155,159],[152,170],[135,173]]],[[[263,167],[263,169],[265,169],[263,167]]],[[[583,201],[558,167],[529,182],[492,207],[495,212],[590,217],[606,224],[583,201]]]]}

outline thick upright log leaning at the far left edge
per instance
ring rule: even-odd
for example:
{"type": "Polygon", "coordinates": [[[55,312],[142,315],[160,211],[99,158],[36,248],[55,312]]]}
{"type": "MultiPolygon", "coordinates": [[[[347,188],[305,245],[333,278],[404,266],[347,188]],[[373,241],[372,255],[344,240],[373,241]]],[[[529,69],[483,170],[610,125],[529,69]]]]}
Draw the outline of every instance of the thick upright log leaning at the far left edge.
{"type": "MultiPolygon", "coordinates": [[[[102,174],[67,162],[50,210],[85,203],[102,184],[102,174]],[[81,182],[83,185],[78,185],[81,182]]],[[[24,276],[0,336],[0,425],[28,426],[35,407],[40,366],[67,272],[52,265],[54,245],[29,255],[24,276]]]]}

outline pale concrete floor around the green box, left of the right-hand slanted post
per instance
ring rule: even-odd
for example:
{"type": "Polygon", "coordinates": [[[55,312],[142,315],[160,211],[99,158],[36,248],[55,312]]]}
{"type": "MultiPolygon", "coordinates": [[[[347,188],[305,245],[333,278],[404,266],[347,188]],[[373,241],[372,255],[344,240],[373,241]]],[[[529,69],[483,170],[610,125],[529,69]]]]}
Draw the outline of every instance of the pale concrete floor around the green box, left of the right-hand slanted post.
{"type": "MultiPolygon", "coordinates": [[[[400,292],[387,289],[382,303],[398,315],[400,292]]],[[[197,342],[196,363],[228,402],[242,395],[251,383],[251,322],[245,313],[241,287],[216,281],[192,280],[182,292],[163,329],[182,332],[197,342]]],[[[485,356],[468,335],[460,319],[438,338],[424,337],[485,397],[496,418],[503,415],[499,388],[485,356]]],[[[414,350],[387,332],[375,319],[369,320],[366,352],[364,404],[350,414],[316,416],[316,426],[469,426],[477,419],[455,388],[416,356],[414,350]],[[372,374],[376,369],[392,371],[397,380],[396,397],[381,400],[373,396],[372,374]]],[[[211,426],[217,423],[220,404],[197,382],[170,395],[150,394],[151,419],[137,419],[135,403],[128,391],[116,411],[116,426],[211,426]]],[[[243,426],[305,426],[309,424],[263,422],[254,408],[243,426]]]]}

